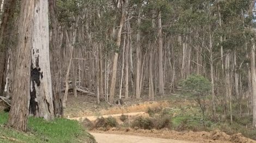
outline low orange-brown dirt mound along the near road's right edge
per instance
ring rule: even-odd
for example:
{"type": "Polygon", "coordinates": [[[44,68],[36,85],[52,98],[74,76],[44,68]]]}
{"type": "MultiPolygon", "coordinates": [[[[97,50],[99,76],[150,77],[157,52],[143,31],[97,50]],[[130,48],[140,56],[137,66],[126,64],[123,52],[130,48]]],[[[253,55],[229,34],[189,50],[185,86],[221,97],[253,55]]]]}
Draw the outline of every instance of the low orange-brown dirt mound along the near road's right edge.
{"type": "Polygon", "coordinates": [[[174,140],[183,140],[183,141],[192,141],[192,142],[212,142],[212,143],[256,143],[256,141],[247,139],[241,134],[228,135],[221,131],[212,131],[212,132],[176,132],[169,131],[168,129],[132,129],[132,128],[112,128],[109,131],[99,131],[94,130],[93,133],[103,133],[103,134],[122,134],[122,135],[136,135],[141,137],[153,137],[161,139],[174,139],[174,140]]]}

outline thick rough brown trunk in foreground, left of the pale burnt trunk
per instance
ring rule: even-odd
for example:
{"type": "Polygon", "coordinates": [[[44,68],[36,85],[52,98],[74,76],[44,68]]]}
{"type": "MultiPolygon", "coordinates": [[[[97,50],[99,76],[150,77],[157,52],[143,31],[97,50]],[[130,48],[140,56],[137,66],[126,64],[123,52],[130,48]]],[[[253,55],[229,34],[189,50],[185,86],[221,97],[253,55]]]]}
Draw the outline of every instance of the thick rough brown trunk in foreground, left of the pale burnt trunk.
{"type": "Polygon", "coordinates": [[[21,1],[17,59],[14,74],[14,90],[8,121],[9,127],[13,127],[19,131],[26,131],[29,114],[33,19],[34,1],[21,1]]]}

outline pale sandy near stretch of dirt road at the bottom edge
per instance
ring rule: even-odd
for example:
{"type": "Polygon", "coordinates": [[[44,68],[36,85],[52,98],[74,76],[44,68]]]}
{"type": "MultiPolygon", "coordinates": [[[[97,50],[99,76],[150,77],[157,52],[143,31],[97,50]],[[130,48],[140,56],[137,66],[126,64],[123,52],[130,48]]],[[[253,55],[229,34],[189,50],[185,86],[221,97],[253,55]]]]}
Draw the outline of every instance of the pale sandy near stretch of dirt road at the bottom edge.
{"type": "Polygon", "coordinates": [[[119,134],[92,134],[98,143],[192,143],[189,141],[159,139],[150,137],[139,137],[135,135],[119,135],[119,134]]]}

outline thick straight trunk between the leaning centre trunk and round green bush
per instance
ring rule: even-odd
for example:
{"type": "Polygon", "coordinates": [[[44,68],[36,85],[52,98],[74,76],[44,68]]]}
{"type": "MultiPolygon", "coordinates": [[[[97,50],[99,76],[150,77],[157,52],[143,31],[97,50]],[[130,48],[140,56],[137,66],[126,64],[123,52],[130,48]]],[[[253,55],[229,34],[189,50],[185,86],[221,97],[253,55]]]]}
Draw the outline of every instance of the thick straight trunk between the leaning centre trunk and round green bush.
{"type": "Polygon", "coordinates": [[[164,94],[164,83],[163,83],[163,41],[162,41],[162,20],[161,20],[161,12],[158,15],[158,66],[159,66],[159,94],[164,94]]]}

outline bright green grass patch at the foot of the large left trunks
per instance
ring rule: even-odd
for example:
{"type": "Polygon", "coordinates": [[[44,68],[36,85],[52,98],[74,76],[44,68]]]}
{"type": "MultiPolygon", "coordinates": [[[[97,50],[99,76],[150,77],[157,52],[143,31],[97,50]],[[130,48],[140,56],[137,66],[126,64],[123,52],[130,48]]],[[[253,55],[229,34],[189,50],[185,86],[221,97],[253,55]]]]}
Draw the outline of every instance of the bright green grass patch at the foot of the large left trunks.
{"type": "Polygon", "coordinates": [[[59,118],[47,122],[31,117],[28,132],[23,133],[4,127],[7,120],[8,114],[0,113],[0,142],[94,142],[94,138],[77,121],[59,118]]]}

